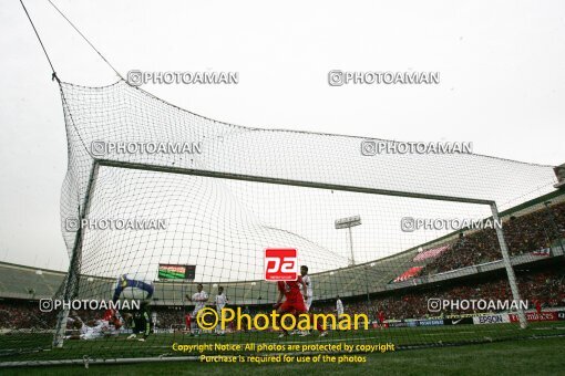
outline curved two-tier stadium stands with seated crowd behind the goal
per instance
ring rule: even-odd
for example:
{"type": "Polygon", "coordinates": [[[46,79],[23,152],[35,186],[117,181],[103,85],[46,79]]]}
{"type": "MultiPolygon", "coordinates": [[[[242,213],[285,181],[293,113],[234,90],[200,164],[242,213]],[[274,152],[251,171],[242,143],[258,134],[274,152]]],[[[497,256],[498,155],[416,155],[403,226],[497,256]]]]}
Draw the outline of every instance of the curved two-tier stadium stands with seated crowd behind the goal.
{"type": "MultiPolygon", "coordinates": [[[[508,210],[505,213],[505,233],[523,299],[530,303],[540,301],[544,306],[563,306],[565,274],[559,268],[564,254],[561,247],[565,233],[565,202],[563,196],[557,196],[553,198],[556,203],[545,208],[545,199],[542,197],[533,205],[508,210]],[[555,223],[548,223],[549,219],[555,223]],[[548,251],[538,251],[544,248],[548,251]]],[[[370,263],[312,274],[317,286],[315,311],[332,307],[336,285],[340,286],[339,295],[352,313],[362,311],[376,315],[384,311],[388,317],[397,320],[428,316],[425,304],[432,296],[510,297],[493,230],[463,236],[453,233],[448,238],[438,239],[425,248],[419,247],[420,251],[411,249],[370,263]],[[417,271],[418,268],[422,269],[417,271]],[[414,271],[415,276],[399,279],[407,270],[414,271]],[[458,273],[453,273],[455,270],[458,273]]],[[[52,327],[54,315],[40,315],[38,300],[52,297],[63,282],[64,274],[60,271],[0,263],[2,327],[52,327]]],[[[107,291],[110,295],[114,285],[112,279],[90,275],[81,278],[81,289],[84,291],[107,291]],[[92,284],[101,288],[92,289],[92,284]]],[[[232,296],[233,304],[249,306],[251,313],[265,310],[276,297],[273,284],[265,281],[223,285],[232,296]]],[[[217,288],[216,283],[205,285],[210,294],[215,294],[217,288]]],[[[195,290],[195,283],[157,281],[155,289],[157,297],[153,305],[161,325],[168,327],[182,322],[185,307],[179,306],[178,302],[186,291],[195,290]]],[[[95,316],[99,313],[83,314],[95,316]]]]}

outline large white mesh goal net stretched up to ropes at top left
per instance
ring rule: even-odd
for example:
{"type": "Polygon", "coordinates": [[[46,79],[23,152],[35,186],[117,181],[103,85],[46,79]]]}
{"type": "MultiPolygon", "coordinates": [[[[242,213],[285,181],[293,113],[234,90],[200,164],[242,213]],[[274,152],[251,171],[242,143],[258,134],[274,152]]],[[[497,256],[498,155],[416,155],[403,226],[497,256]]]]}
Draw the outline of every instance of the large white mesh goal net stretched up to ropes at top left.
{"type": "Polygon", "coordinates": [[[12,331],[19,347],[1,340],[10,361],[350,359],[531,336],[521,324],[559,294],[535,288],[562,275],[564,199],[551,166],[445,143],[236,126],[124,81],[62,83],[61,95],[71,267],[53,299],[66,304],[43,313],[49,327],[12,331]],[[296,250],[290,274],[308,275],[305,302],[285,305],[301,283],[266,280],[268,251],[281,249],[296,250]],[[300,328],[302,304],[336,326],[300,328]],[[296,324],[271,320],[285,309],[296,324]]]}

